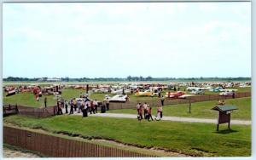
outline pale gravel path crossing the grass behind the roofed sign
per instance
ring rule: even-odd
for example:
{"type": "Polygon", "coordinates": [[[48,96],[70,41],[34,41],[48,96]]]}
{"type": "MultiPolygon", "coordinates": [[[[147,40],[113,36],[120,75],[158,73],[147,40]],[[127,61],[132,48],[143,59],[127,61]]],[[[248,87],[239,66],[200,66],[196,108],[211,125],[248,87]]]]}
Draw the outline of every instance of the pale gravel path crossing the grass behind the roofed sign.
{"type": "MultiPolygon", "coordinates": [[[[64,113],[64,110],[63,110],[64,113]]],[[[74,111],[73,115],[79,115],[82,116],[82,113],[77,113],[77,111],[74,111]]],[[[89,113],[89,116],[95,116],[95,117],[121,117],[121,118],[137,118],[136,114],[122,114],[122,113],[96,113],[91,114],[89,113]]],[[[154,118],[154,116],[152,116],[154,118]]],[[[217,118],[216,119],[206,119],[206,118],[195,118],[195,117],[163,117],[161,118],[163,121],[176,121],[176,122],[187,122],[187,123],[218,123],[217,118]]],[[[240,125],[251,125],[251,121],[245,121],[245,120],[232,120],[230,124],[240,124],[240,125]]]]}

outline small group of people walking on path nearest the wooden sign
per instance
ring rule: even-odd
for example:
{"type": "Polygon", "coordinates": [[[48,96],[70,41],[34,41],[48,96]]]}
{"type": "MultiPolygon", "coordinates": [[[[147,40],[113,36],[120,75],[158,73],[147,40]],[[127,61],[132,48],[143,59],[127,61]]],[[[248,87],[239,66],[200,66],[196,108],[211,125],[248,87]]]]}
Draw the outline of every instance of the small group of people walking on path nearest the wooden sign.
{"type": "MultiPolygon", "coordinates": [[[[152,117],[152,107],[150,107],[147,102],[144,104],[138,103],[137,104],[137,119],[141,121],[143,119],[148,120],[148,122],[151,120],[153,121],[152,117]]],[[[162,106],[157,106],[156,109],[156,121],[160,121],[160,119],[163,117],[163,105],[162,106]]]]}

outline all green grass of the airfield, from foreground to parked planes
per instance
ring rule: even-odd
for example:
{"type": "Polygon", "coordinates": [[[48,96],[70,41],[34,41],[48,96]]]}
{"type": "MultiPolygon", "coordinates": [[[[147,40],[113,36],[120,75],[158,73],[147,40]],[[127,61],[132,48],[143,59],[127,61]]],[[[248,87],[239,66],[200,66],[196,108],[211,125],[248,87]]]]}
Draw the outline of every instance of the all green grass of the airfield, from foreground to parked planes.
{"type": "MultiPolygon", "coordinates": [[[[249,92],[251,88],[239,88],[238,92],[249,92]]],[[[65,100],[78,97],[84,93],[82,89],[62,89],[65,100]]],[[[162,94],[165,94],[163,91],[162,94]]],[[[206,94],[212,94],[206,93],[206,94]]],[[[215,93],[216,94],[216,93],[215,93]]],[[[217,93],[218,94],[218,93],[217,93]]],[[[90,94],[90,98],[102,100],[105,94],[90,94]]],[[[48,95],[48,106],[55,105],[53,95],[48,95]]],[[[44,98],[44,97],[43,97],[44,98]]],[[[152,100],[157,97],[137,97],[130,95],[130,100],[152,100]]],[[[9,97],[3,96],[4,104],[18,104],[20,106],[43,107],[44,99],[36,101],[33,94],[15,94],[9,97]]],[[[189,105],[164,106],[164,117],[196,117],[217,118],[218,112],[211,108],[217,101],[204,101],[192,103],[191,113],[188,113],[189,105]]],[[[231,119],[251,120],[251,97],[226,100],[226,104],[238,107],[233,111],[231,119]]],[[[136,107],[136,106],[135,106],[136,107]]],[[[155,114],[155,106],[153,114],[155,114]]],[[[109,113],[137,114],[135,109],[112,110],[109,113]]],[[[67,132],[80,134],[85,137],[100,137],[102,144],[107,140],[117,140],[121,144],[165,149],[178,154],[175,156],[250,156],[251,155],[251,125],[220,125],[220,131],[216,132],[216,124],[212,123],[184,123],[172,121],[138,122],[136,118],[116,117],[80,117],[80,116],[55,116],[47,118],[9,116],[3,117],[3,125],[11,125],[19,128],[43,129],[49,134],[67,132]]],[[[170,156],[170,152],[159,156],[170,156]]]]}

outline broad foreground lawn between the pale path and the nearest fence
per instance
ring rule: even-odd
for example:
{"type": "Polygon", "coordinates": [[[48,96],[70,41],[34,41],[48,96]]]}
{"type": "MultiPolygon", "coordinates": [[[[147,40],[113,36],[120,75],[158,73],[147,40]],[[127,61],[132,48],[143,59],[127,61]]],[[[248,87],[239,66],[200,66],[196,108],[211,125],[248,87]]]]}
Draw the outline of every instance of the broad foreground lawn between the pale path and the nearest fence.
{"type": "Polygon", "coordinates": [[[49,132],[67,131],[84,136],[100,136],[141,146],[157,146],[197,156],[250,156],[251,127],[177,122],[138,122],[137,119],[110,117],[55,116],[33,118],[4,117],[4,123],[44,129],[49,132]]]}

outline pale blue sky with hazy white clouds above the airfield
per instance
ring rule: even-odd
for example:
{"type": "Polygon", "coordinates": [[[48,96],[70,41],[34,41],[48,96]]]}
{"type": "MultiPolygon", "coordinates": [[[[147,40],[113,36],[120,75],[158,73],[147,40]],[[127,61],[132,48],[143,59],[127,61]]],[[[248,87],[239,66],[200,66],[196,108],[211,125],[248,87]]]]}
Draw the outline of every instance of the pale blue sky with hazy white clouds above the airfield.
{"type": "Polygon", "coordinates": [[[251,3],[3,3],[3,77],[251,77],[251,3]]]}

